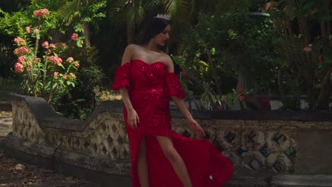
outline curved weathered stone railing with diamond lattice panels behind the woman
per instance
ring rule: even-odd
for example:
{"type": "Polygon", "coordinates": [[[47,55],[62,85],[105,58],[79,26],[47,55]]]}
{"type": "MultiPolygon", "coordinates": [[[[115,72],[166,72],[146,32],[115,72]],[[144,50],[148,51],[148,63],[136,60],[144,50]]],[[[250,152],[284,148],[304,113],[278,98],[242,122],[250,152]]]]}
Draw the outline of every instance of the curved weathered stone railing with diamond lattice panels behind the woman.
{"type": "MultiPolygon", "coordinates": [[[[84,121],[58,117],[43,98],[11,94],[11,102],[13,132],[6,140],[6,154],[87,180],[130,186],[122,101],[101,103],[84,121]],[[89,179],[96,176],[92,172],[111,181],[89,179]]],[[[171,113],[173,129],[193,137],[179,111],[172,108],[171,113]]],[[[233,163],[236,170],[229,186],[286,185],[290,179],[303,186],[315,180],[332,186],[331,113],[192,113],[206,138],[233,163]]]]}

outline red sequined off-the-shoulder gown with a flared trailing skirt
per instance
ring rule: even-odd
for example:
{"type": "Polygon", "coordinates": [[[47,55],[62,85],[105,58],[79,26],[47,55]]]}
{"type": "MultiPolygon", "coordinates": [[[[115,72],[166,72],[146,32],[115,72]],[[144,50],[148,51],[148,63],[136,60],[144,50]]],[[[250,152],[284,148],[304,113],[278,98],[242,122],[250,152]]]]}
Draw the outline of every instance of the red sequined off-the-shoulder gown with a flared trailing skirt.
{"type": "Polygon", "coordinates": [[[179,79],[168,72],[163,62],[147,64],[133,60],[116,70],[114,90],[128,87],[131,103],[140,123],[133,129],[124,119],[131,147],[131,178],[134,187],[140,186],[137,173],[137,158],[140,141],[145,136],[148,157],[148,172],[151,187],[180,187],[181,181],[166,159],[155,136],[171,137],[177,152],[187,166],[194,187],[223,186],[233,173],[233,166],[207,140],[182,137],[173,132],[170,125],[171,96],[184,98],[179,79]]]}

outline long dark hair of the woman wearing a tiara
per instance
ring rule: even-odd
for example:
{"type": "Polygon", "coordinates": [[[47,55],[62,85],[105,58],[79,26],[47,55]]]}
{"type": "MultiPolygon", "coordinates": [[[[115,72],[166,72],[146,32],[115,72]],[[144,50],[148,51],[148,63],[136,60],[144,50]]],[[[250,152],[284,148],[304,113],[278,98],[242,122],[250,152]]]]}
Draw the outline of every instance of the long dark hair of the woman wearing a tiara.
{"type": "Polygon", "coordinates": [[[152,18],[143,28],[143,35],[140,40],[141,45],[145,45],[155,37],[155,35],[162,33],[165,28],[170,25],[170,21],[162,18],[152,18]]]}

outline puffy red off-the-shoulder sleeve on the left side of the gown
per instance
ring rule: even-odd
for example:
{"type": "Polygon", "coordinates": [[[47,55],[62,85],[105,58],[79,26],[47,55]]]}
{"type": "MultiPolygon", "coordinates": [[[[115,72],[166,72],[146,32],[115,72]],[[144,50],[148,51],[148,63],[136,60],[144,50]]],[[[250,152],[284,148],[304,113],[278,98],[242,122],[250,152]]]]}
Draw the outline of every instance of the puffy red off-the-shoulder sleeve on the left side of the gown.
{"type": "Polygon", "coordinates": [[[112,89],[118,90],[121,89],[124,86],[129,86],[130,85],[130,63],[123,64],[122,66],[118,67],[116,69],[116,74],[114,76],[114,82],[112,85],[112,89]]]}

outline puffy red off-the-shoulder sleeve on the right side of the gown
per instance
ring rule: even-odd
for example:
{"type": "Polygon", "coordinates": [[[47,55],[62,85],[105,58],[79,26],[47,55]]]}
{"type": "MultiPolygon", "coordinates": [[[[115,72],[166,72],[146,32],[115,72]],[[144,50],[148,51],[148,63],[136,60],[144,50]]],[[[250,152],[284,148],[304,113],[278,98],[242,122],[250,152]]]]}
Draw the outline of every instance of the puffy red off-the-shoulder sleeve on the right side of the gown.
{"type": "Polygon", "coordinates": [[[172,96],[177,96],[179,98],[184,98],[186,95],[182,89],[181,83],[177,75],[170,72],[167,73],[165,79],[165,96],[170,98],[172,96]]]}

